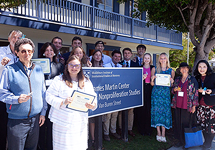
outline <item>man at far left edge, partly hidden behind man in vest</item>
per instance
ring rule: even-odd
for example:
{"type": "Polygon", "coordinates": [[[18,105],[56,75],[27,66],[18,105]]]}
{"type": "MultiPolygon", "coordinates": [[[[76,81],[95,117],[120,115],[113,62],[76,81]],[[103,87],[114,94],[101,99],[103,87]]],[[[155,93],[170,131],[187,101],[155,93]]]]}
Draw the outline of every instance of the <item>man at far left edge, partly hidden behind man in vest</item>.
{"type": "MultiPolygon", "coordinates": [[[[21,31],[12,30],[8,36],[8,41],[10,44],[6,47],[0,47],[0,76],[5,66],[18,61],[18,58],[15,56],[14,45],[21,37],[21,31]]],[[[0,149],[5,150],[7,141],[7,112],[6,105],[3,102],[0,102],[0,120],[0,149]]]]}

